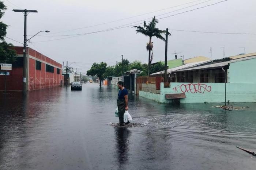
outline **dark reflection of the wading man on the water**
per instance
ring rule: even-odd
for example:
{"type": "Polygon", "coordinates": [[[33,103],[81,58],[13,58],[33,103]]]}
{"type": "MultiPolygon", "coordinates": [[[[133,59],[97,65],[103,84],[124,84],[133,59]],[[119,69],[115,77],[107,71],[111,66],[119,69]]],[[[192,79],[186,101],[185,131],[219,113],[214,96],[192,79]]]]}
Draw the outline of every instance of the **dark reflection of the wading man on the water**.
{"type": "Polygon", "coordinates": [[[131,131],[125,127],[114,127],[116,132],[116,158],[118,169],[123,169],[128,163],[129,136],[131,131]]]}

